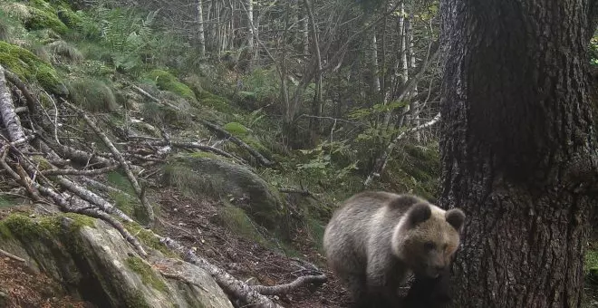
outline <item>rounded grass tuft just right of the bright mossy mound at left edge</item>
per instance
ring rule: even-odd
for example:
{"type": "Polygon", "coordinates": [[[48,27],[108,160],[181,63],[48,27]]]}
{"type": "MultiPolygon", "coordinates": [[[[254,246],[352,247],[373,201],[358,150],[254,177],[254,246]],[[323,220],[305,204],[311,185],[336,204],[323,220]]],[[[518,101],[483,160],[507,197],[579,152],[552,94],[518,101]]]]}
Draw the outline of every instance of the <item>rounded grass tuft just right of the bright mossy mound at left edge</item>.
{"type": "Polygon", "coordinates": [[[92,112],[118,110],[116,97],[111,87],[98,79],[76,79],[68,83],[71,100],[92,112]]]}

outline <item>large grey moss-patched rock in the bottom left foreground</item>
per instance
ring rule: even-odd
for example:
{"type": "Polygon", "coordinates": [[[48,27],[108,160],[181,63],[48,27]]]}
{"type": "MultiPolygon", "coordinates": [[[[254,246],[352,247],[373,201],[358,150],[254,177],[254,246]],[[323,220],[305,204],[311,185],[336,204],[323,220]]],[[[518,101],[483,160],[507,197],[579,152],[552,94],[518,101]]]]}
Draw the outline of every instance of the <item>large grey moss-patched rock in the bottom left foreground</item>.
{"type": "MultiPolygon", "coordinates": [[[[76,214],[11,215],[0,221],[0,248],[24,257],[76,297],[98,307],[232,308],[214,279],[198,266],[146,248],[137,256],[121,234],[101,220],[76,214]],[[193,277],[194,285],[162,276],[153,264],[193,277]]],[[[148,231],[149,232],[149,231],[148,231]]]]}

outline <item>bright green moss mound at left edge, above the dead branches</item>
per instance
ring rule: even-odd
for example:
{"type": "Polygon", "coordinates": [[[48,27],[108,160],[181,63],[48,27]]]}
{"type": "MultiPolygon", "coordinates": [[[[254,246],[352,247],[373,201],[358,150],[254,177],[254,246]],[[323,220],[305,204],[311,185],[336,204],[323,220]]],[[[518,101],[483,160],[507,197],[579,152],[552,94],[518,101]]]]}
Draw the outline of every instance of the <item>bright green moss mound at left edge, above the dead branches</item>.
{"type": "Polygon", "coordinates": [[[59,95],[68,94],[53,67],[24,48],[0,41],[0,64],[5,65],[21,79],[37,80],[48,91],[59,95]]]}

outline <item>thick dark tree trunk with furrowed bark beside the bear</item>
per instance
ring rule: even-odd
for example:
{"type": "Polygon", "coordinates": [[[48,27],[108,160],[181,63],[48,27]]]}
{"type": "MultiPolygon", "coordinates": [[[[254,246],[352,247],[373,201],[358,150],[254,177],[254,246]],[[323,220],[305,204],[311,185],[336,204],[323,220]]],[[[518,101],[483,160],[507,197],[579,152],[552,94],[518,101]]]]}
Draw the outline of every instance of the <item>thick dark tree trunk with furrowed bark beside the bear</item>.
{"type": "Polygon", "coordinates": [[[596,168],[589,1],[442,0],[441,10],[439,201],[468,216],[453,304],[579,307],[592,206],[581,188],[596,185],[574,181],[596,168]]]}

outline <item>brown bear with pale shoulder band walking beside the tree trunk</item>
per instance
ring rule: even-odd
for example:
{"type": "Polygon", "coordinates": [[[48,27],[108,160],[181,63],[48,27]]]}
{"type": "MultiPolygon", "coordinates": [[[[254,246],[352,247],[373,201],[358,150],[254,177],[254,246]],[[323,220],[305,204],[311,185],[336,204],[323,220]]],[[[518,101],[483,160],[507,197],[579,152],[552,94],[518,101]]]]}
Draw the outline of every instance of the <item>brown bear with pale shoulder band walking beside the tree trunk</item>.
{"type": "Polygon", "coordinates": [[[397,307],[410,274],[437,278],[457,251],[465,214],[412,196],[365,191],[345,200],[326,226],[323,249],[356,307],[397,307]]]}

